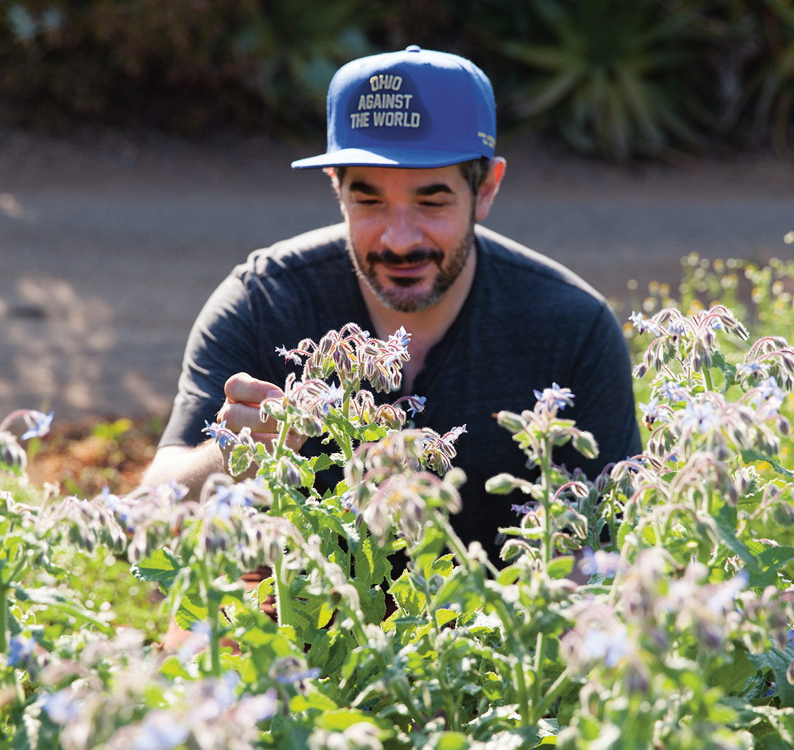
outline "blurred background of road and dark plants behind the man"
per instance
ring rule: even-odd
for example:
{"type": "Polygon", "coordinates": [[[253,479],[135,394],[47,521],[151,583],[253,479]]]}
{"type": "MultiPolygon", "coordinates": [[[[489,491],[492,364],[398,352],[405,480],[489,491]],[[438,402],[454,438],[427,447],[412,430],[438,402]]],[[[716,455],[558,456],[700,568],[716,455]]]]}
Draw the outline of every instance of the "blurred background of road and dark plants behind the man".
{"type": "Polygon", "coordinates": [[[40,478],[134,481],[210,292],[339,219],[289,168],[333,73],[408,44],[491,78],[485,223],[622,321],[682,256],[792,257],[788,0],[0,0],[0,411],[56,411],[40,478]]]}

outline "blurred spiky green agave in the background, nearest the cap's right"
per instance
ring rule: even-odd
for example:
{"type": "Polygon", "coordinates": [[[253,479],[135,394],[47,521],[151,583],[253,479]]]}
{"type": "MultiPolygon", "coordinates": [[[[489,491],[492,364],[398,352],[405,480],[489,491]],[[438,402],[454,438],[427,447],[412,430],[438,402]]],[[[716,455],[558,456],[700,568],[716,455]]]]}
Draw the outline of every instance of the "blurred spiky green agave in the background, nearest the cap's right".
{"type": "Polygon", "coordinates": [[[657,154],[671,140],[696,144],[671,83],[690,62],[688,13],[665,13],[654,0],[533,0],[533,7],[552,41],[502,49],[547,75],[518,94],[515,115],[549,113],[574,148],[617,160],[657,154]]]}

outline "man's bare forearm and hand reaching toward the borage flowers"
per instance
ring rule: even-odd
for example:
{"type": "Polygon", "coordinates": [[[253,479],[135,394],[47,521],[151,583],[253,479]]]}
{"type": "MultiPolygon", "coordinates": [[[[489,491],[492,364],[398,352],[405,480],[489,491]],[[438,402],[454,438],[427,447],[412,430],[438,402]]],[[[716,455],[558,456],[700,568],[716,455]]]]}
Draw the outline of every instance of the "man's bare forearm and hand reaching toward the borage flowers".
{"type": "MultiPolygon", "coordinates": [[[[262,421],[259,405],[265,398],[283,397],[283,390],[273,383],[238,372],[226,381],[224,392],[226,400],[218,412],[218,421],[225,421],[226,428],[234,433],[249,427],[251,437],[269,447],[272,440],[278,438],[277,423],[272,417],[262,421]]],[[[290,433],[286,442],[290,448],[298,451],[304,440],[305,438],[290,433]]],[[[231,444],[226,444],[221,449],[215,440],[206,440],[195,448],[187,445],[166,445],[156,452],[141,484],[158,485],[176,479],[189,488],[188,497],[198,498],[208,476],[218,472],[228,473],[232,449],[231,444]]],[[[245,479],[255,474],[256,466],[253,466],[244,475],[238,475],[237,479],[245,479]]]]}

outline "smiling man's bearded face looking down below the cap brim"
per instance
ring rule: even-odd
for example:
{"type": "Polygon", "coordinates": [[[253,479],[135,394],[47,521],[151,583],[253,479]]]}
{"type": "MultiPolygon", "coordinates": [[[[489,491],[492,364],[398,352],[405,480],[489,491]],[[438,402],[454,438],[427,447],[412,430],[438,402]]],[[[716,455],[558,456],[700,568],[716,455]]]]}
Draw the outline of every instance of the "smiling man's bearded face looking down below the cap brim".
{"type": "Polygon", "coordinates": [[[457,166],[348,167],[339,188],[357,273],[391,310],[433,306],[460,275],[476,202],[457,166]]]}

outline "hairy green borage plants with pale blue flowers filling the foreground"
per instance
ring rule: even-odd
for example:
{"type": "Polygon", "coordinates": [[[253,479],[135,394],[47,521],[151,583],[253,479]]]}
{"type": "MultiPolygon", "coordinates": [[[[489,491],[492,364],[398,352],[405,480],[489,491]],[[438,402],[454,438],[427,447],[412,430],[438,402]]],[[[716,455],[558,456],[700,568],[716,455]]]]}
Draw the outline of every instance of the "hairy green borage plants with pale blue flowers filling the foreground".
{"type": "Polygon", "coordinates": [[[402,331],[349,325],[283,350],[303,374],[262,404],[272,444],[208,425],[231,473],[256,478],[214,476],[198,502],[175,484],[67,498],[63,528],[125,547],[192,633],[166,656],[101,622],[31,644],[17,618],[14,746],[794,747],[794,507],[777,437],[794,356],[769,338],[729,362],[718,337],[743,329],[724,308],[634,320],[654,334],[638,371],[657,371],[645,453],[594,479],[557,467],[555,446],[597,446],[556,384],[499,413],[540,469],[488,483],[526,499],[502,570],[449,524],[463,428],[401,429],[423,400],[376,406],[361,389],[399,385],[402,331]],[[290,430],[337,449],[307,460],[290,430]],[[333,464],[345,479],[321,497],[315,472],[333,464]],[[241,571],[260,565],[272,575],[246,593],[241,571]],[[260,611],[273,594],[276,621],[260,611]]]}

